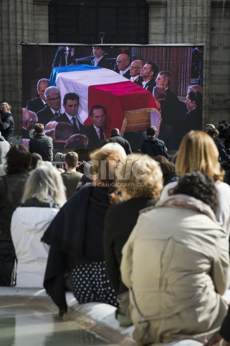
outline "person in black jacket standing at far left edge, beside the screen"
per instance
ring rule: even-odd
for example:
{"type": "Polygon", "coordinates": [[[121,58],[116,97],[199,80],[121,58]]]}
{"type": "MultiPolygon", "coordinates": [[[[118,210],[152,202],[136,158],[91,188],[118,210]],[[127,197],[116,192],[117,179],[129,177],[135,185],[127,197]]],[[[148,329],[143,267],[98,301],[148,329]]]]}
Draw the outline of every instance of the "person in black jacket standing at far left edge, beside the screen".
{"type": "Polygon", "coordinates": [[[1,135],[11,145],[13,143],[14,120],[10,110],[11,110],[11,106],[7,102],[2,102],[0,104],[1,135]]]}

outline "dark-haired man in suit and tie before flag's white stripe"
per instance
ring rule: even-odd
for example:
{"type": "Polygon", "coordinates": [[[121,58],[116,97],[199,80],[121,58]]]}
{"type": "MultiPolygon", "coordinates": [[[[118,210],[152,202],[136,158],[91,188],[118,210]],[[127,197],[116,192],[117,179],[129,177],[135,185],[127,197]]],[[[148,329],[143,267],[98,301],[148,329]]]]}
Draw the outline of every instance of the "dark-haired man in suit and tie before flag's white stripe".
{"type": "Polygon", "coordinates": [[[63,98],[65,112],[52,120],[58,123],[65,122],[71,124],[73,127],[73,134],[82,133],[85,126],[77,113],[78,106],[79,96],[75,92],[67,92],[63,98]]]}

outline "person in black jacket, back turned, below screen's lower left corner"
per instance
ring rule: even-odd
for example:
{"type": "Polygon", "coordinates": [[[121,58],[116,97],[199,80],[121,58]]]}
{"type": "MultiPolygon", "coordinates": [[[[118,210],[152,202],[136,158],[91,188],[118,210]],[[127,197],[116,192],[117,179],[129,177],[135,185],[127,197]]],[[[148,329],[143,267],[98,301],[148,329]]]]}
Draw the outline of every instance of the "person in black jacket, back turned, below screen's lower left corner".
{"type": "Polygon", "coordinates": [[[43,124],[35,124],[35,137],[31,138],[29,149],[40,154],[43,161],[53,161],[53,140],[44,134],[43,124]]]}

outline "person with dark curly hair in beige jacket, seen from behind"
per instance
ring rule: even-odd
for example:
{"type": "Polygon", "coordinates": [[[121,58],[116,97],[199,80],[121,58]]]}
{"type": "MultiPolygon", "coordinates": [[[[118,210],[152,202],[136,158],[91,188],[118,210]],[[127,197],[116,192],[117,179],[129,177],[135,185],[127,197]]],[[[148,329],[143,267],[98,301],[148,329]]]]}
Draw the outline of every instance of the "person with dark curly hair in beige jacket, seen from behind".
{"type": "Polygon", "coordinates": [[[217,208],[213,179],[193,172],[140,214],[120,266],[138,345],[177,340],[196,345],[220,327],[230,258],[217,208]]]}

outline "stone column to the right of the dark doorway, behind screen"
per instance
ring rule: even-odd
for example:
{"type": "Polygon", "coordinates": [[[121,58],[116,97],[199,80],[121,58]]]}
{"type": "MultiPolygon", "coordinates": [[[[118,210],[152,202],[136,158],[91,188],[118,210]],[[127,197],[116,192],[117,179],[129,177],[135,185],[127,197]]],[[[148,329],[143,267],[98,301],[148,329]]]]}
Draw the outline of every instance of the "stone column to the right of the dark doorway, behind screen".
{"type": "Polygon", "coordinates": [[[210,0],[146,0],[149,43],[204,43],[203,122],[208,119],[210,0]]]}

